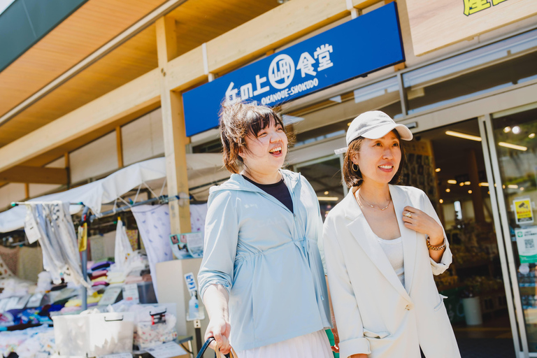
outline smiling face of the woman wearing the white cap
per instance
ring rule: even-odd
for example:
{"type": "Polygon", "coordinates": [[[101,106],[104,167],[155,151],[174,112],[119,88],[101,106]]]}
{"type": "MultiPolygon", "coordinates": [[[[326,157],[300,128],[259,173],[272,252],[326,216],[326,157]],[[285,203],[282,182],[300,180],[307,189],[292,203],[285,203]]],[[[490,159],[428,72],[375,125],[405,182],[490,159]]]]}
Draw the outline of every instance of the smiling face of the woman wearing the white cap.
{"type": "Polygon", "coordinates": [[[399,138],[393,131],[378,139],[364,138],[352,162],[359,166],[364,181],[387,184],[392,181],[401,164],[399,138]]]}

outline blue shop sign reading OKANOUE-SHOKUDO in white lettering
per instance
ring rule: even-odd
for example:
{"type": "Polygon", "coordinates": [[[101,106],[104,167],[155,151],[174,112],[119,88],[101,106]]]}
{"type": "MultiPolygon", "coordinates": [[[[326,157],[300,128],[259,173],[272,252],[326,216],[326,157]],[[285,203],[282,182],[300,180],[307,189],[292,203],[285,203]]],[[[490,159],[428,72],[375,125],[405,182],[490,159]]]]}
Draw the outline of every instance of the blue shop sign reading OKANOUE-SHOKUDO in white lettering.
{"type": "Polygon", "coordinates": [[[187,136],[218,127],[224,98],[276,106],[404,61],[392,2],[185,92],[187,136]]]}

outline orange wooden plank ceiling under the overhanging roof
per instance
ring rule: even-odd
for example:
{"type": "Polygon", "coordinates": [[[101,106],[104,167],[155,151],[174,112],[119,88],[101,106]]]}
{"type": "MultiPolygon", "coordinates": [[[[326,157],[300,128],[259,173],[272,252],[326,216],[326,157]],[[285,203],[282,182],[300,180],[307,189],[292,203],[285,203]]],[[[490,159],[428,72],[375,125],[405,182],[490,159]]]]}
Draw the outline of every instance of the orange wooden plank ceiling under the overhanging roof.
{"type": "MultiPolygon", "coordinates": [[[[90,0],[0,73],[0,115],[7,113],[163,0],[90,0]]],[[[187,0],[169,13],[176,19],[178,55],[278,6],[276,0],[187,0]]],[[[155,24],[0,124],[0,147],[157,68],[155,24]]],[[[140,113],[140,115],[143,113],[140,113]]],[[[133,116],[120,123],[134,119],[133,116]]],[[[115,125],[114,124],[114,125],[115,125]]],[[[43,166],[113,130],[102,128],[24,165],[43,166]]]]}

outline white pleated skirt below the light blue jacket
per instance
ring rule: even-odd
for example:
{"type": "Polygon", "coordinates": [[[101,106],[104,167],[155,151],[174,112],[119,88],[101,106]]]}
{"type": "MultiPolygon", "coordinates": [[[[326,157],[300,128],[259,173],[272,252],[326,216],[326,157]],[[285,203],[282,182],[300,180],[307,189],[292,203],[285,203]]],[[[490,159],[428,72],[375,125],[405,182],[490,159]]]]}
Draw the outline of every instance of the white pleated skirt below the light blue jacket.
{"type": "Polygon", "coordinates": [[[334,358],[324,330],[237,352],[238,358],[334,358]]]}

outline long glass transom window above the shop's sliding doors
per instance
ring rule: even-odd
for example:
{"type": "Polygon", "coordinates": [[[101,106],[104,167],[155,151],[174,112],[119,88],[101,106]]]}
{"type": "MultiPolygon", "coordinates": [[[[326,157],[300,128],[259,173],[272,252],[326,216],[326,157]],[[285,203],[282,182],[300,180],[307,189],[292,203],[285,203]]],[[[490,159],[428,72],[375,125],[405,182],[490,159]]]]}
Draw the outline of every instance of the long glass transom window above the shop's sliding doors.
{"type": "Polygon", "coordinates": [[[403,74],[408,113],[537,78],[537,30],[403,74]]]}

